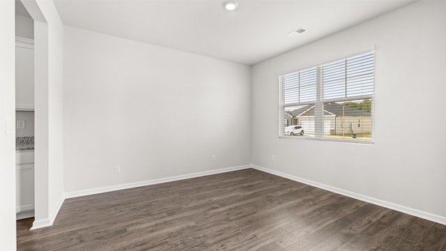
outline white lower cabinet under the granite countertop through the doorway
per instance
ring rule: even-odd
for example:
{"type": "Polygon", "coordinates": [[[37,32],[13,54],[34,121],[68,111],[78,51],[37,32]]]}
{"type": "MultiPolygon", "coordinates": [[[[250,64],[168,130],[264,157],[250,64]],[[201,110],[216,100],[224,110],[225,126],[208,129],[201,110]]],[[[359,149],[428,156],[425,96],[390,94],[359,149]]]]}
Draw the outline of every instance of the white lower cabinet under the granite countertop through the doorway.
{"type": "Polygon", "coordinates": [[[26,218],[34,211],[34,151],[17,151],[15,162],[17,217],[26,218]]]}

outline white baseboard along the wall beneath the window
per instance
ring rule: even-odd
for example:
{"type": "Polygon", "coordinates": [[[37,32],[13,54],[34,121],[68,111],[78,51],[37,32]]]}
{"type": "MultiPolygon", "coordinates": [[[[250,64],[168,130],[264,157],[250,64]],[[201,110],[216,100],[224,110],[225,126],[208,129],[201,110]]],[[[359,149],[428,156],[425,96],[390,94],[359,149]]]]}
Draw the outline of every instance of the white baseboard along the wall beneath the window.
{"type": "Polygon", "coordinates": [[[368,203],[371,203],[371,204],[375,204],[375,205],[378,205],[378,206],[383,206],[385,208],[390,208],[390,209],[392,209],[394,211],[399,211],[401,213],[407,213],[409,215],[413,215],[413,216],[416,216],[416,217],[419,217],[419,218],[423,218],[425,220],[431,220],[433,222],[437,222],[437,223],[440,223],[442,225],[446,225],[446,217],[441,216],[441,215],[435,215],[433,213],[420,211],[420,210],[417,210],[415,208],[409,208],[407,206],[401,206],[399,204],[394,204],[394,203],[389,202],[389,201],[383,201],[383,200],[376,199],[376,198],[373,198],[373,197],[369,197],[369,196],[366,196],[366,195],[360,195],[360,194],[357,194],[356,192],[351,192],[351,191],[344,190],[344,189],[341,189],[341,188],[335,188],[335,187],[332,187],[331,185],[325,185],[323,183],[318,183],[316,181],[310,181],[310,180],[307,180],[305,178],[300,178],[298,176],[293,176],[293,175],[290,175],[290,174],[284,174],[282,172],[277,172],[275,170],[268,169],[268,168],[265,168],[265,167],[259,167],[258,165],[251,165],[251,167],[253,169],[257,169],[257,170],[262,171],[262,172],[267,172],[269,174],[274,174],[274,175],[277,175],[277,176],[281,176],[283,178],[291,179],[292,181],[298,181],[300,183],[305,183],[307,185],[312,185],[312,186],[314,186],[316,188],[321,188],[323,190],[328,190],[330,192],[334,192],[334,193],[337,193],[339,195],[345,195],[345,196],[351,197],[353,199],[359,199],[360,201],[365,201],[365,202],[368,202],[368,203]]]}

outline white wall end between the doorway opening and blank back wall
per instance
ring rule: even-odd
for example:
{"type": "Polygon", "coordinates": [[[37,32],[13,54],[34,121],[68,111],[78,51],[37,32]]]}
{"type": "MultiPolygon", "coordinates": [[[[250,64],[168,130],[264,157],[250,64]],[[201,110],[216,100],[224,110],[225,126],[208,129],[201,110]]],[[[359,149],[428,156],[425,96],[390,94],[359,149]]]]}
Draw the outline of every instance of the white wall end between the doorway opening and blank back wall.
{"type": "Polygon", "coordinates": [[[52,225],[63,202],[63,25],[52,1],[24,1],[34,22],[35,218],[52,225]]]}

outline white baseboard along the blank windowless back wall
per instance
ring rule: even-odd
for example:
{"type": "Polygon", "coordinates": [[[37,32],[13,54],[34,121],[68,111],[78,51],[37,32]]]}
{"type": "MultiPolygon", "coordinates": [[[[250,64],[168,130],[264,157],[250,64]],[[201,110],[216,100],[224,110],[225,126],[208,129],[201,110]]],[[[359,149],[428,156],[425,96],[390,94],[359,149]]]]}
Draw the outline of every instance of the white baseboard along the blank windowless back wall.
{"type": "Polygon", "coordinates": [[[180,180],[183,180],[186,178],[196,178],[196,177],[207,176],[207,175],[212,175],[212,174],[222,174],[224,172],[233,172],[233,171],[238,171],[238,170],[242,170],[242,169],[249,169],[251,167],[252,167],[252,165],[242,165],[242,166],[237,166],[237,167],[215,169],[215,170],[210,170],[210,171],[205,171],[205,172],[197,172],[197,173],[193,173],[193,174],[183,174],[183,175],[178,175],[178,176],[171,176],[171,177],[167,177],[167,178],[157,178],[157,179],[148,180],[148,181],[139,181],[139,182],[133,182],[133,183],[125,183],[125,184],[121,184],[121,185],[110,185],[110,186],[102,187],[102,188],[92,188],[92,189],[86,189],[86,190],[66,192],[64,197],[66,199],[68,199],[68,198],[81,197],[81,196],[86,196],[86,195],[95,195],[95,194],[99,194],[102,192],[112,192],[112,191],[123,190],[123,189],[128,189],[128,188],[138,188],[138,187],[141,187],[144,185],[155,185],[155,184],[166,183],[166,182],[171,182],[171,181],[180,181],[180,180]]]}

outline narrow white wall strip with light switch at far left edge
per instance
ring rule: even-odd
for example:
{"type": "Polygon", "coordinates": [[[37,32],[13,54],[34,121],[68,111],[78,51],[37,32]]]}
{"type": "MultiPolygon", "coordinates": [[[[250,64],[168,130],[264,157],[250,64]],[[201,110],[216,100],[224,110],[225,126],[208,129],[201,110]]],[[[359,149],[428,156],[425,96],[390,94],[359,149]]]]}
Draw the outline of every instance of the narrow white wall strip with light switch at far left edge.
{"type": "Polygon", "coordinates": [[[16,250],[14,22],[14,0],[0,1],[0,249],[12,251],[16,250]],[[6,134],[8,120],[11,130],[6,134]]]}

